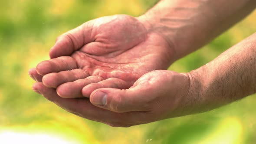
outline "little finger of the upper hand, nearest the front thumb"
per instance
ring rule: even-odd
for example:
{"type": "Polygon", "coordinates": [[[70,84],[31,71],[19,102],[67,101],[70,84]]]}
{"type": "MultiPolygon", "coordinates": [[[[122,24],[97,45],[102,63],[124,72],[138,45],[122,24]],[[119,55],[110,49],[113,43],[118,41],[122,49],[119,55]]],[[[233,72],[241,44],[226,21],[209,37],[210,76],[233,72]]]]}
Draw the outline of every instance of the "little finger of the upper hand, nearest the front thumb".
{"type": "Polygon", "coordinates": [[[118,88],[118,89],[127,89],[130,88],[131,84],[128,82],[125,82],[122,79],[117,79],[117,78],[109,78],[103,81],[100,81],[98,83],[92,83],[89,85],[86,85],[82,89],[82,95],[84,97],[89,98],[91,93],[98,88],[118,88]]]}

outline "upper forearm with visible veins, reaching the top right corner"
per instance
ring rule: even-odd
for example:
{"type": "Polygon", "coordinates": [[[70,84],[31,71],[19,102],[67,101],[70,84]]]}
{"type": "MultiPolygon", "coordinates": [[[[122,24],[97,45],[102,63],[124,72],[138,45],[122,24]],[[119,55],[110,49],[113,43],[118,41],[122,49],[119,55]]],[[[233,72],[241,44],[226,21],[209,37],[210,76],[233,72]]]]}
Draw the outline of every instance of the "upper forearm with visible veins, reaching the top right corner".
{"type": "Polygon", "coordinates": [[[174,60],[193,52],[237,23],[255,0],[161,0],[139,19],[173,47],[174,60]]]}

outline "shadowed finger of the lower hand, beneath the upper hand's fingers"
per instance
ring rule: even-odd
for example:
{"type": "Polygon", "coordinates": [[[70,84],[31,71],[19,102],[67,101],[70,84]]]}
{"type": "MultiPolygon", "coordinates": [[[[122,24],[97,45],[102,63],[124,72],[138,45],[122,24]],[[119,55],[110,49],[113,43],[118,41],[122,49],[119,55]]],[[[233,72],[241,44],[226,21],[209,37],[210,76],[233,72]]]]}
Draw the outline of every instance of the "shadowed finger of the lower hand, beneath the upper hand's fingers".
{"type": "Polygon", "coordinates": [[[61,98],[57,95],[54,88],[48,88],[44,86],[42,82],[35,83],[33,89],[59,107],[82,118],[117,126],[118,124],[120,125],[121,122],[128,120],[127,116],[129,115],[95,107],[87,98],[61,98]]]}

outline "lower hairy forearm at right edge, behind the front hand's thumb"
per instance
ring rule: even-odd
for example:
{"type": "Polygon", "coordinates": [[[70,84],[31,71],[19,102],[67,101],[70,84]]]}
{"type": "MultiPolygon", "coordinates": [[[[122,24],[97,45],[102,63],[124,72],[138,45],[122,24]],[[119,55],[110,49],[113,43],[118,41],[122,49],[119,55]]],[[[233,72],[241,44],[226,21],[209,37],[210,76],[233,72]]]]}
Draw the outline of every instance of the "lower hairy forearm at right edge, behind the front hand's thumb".
{"type": "Polygon", "coordinates": [[[190,79],[190,94],[199,99],[191,101],[203,111],[256,93],[256,33],[190,72],[190,79]]]}

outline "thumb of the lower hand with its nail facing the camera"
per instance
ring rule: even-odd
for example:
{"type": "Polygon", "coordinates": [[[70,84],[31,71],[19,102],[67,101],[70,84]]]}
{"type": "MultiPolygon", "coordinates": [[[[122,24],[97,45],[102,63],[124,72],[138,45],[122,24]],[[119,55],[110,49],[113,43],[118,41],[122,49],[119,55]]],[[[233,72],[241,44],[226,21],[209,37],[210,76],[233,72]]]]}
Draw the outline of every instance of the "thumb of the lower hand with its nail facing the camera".
{"type": "Polygon", "coordinates": [[[152,98],[148,93],[138,86],[129,89],[99,88],[92,92],[90,101],[97,107],[115,112],[148,111],[152,98]]]}

